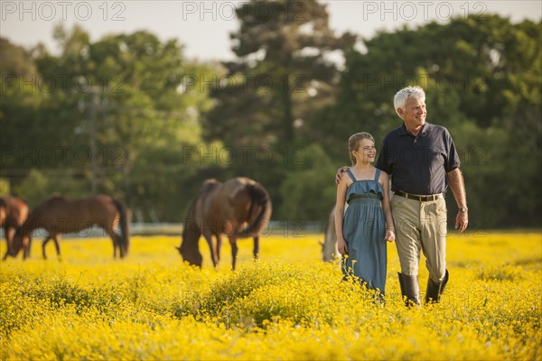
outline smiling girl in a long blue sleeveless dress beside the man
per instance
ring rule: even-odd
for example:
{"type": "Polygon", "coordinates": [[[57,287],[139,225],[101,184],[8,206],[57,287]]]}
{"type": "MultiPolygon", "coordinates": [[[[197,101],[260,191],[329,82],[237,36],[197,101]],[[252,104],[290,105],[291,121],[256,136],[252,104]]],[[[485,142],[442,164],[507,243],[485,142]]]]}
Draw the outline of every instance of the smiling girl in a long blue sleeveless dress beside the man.
{"type": "Polygon", "coordinates": [[[348,141],[352,166],[337,185],[335,229],[342,272],[360,278],[382,294],[386,286],[387,245],[395,239],[389,205],[388,174],[371,165],[375,141],[357,133],[348,141]],[[345,203],[348,203],[346,213],[345,203]],[[347,256],[348,255],[348,256],[347,256]]]}

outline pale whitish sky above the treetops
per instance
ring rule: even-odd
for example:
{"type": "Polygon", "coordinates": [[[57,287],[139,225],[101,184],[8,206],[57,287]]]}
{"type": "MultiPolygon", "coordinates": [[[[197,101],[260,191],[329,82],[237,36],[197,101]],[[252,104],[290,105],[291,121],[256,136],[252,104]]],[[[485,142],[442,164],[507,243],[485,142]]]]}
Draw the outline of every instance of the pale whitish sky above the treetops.
{"type": "MultiPolygon", "coordinates": [[[[366,1],[328,0],[330,26],[336,34],[353,32],[370,38],[378,30],[391,31],[430,21],[442,22],[453,16],[500,14],[512,22],[539,21],[540,0],[448,0],[448,1],[366,1]]],[[[58,51],[52,29],[62,23],[68,29],[79,24],[89,32],[92,42],[107,33],[147,30],[161,40],[176,38],[185,55],[194,60],[232,60],[229,33],[238,30],[234,8],[243,1],[125,0],[125,1],[6,1],[0,0],[0,35],[18,45],[31,48],[42,42],[49,51],[58,51]]],[[[269,8],[258,9],[262,18],[269,8]]],[[[294,16],[303,16],[304,3],[292,8],[294,16]]]]}

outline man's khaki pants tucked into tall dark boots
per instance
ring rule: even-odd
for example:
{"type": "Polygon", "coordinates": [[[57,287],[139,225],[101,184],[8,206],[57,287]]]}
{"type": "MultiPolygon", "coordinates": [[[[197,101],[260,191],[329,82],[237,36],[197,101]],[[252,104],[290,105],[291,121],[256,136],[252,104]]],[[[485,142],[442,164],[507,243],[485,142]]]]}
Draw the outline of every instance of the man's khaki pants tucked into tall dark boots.
{"type": "Polygon", "coordinates": [[[394,195],[391,210],[396,228],[396,245],[401,273],[416,276],[420,250],[425,255],[429,277],[444,280],[446,272],[446,201],[420,202],[394,195]]]}

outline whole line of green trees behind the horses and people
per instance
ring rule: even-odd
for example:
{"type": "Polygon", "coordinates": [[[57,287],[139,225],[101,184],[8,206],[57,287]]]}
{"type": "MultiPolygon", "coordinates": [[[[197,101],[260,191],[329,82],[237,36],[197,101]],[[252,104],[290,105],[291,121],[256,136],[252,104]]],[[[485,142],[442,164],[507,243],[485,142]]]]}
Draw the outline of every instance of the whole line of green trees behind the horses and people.
{"type": "Polygon", "coordinates": [[[176,222],[203,180],[244,175],[274,218],[323,220],[350,134],[378,148],[400,125],[393,95],[416,84],[460,152],[472,227],[540,227],[540,22],[474,15],[363,39],[333,32],[317,1],[304,16],[266,1],[265,18],[261,1],[238,6],[221,63],[147,31],[91,42],[59,25],[59,54],[2,38],[0,190],[31,206],[103,192],[135,220],[176,222]]]}

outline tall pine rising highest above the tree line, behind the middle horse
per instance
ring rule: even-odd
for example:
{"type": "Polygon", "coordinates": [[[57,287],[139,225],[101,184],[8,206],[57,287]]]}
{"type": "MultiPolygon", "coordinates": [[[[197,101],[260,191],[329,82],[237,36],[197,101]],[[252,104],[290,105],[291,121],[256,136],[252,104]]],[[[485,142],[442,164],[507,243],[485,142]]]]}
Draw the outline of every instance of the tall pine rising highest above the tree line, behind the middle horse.
{"type": "Polygon", "coordinates": [[[237,16],[238,31],[230,35],[237,59],[213,79],[215,106],[204,117],[204,137],[238,155],[229,175],[262,182],[280,216],[281,184],[308,149],[307,120],[333,99],[339,74],[333,54],[355,37],[335,35],[325,5],[315,0],[252,0],[238,6],[237,16]],[[262,160],[262,153],[270,155],[262,160]]]}

